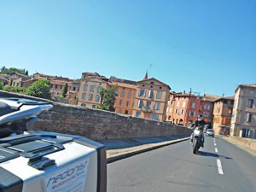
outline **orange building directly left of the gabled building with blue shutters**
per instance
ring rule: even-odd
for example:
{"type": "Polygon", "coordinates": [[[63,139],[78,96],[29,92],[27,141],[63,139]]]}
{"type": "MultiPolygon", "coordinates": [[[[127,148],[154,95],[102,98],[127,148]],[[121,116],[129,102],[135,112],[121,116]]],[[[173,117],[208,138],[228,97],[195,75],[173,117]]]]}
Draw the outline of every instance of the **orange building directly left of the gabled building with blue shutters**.
{"type": "Polygon", "coordinates": [[[137,82],[126,79],[109,79],[116,86],[116,100],[113,108],[116,113],[132,114],[134,99],[137,92],[137,82]]]}

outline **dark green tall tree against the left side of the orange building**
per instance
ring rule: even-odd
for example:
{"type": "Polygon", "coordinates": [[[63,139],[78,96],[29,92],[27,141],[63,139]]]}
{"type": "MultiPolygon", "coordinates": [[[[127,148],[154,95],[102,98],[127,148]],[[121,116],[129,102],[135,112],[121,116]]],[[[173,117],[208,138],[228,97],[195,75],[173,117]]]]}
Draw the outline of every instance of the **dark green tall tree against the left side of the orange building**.
{"type": "Polygon", "coordinates": [[[113,85],[111,85],[108,90],[102,88],[100,92],[101,104],[98,107],[99,109],[114,112],[115,91],[116,87],[113,85]]]}

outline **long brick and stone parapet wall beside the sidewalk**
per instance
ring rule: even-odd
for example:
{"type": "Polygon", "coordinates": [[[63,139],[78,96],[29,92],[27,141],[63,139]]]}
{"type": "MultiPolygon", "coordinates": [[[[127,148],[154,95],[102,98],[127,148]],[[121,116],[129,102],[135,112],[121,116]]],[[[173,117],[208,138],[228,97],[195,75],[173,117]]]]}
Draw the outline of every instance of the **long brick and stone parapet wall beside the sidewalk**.
{"type": "MultiPolygon", "coordinates": [[[[1,90],[0,96],[38,99],[1,90]]],[[[36,123],[34,130],[81,135],[96,140],[177,136],[191,133],[191,130],[186,127],[166,122],[119,115],[57,102],[51,103],[54,108],[39,115],[39,121],[36,123]]]]}

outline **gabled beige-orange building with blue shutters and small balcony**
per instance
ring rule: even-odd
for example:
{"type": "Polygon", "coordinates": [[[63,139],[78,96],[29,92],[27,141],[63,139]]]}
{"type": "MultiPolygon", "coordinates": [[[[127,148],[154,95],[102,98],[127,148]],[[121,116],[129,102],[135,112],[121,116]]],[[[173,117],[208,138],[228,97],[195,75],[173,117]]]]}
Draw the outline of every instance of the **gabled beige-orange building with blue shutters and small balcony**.
{"type": "Polygon", "coordinates": [[[145,119],[166,120],[166,107],[171,88],[158,79],[143,79],[137,82],[132,116],[145,119]]]}

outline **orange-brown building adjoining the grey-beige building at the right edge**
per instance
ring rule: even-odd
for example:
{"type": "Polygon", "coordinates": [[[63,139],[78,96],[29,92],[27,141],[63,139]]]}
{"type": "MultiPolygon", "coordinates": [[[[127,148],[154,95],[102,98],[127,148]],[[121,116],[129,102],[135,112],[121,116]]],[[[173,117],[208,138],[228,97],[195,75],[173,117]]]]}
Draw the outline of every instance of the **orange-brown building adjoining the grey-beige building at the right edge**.
{"type": "Polygon", "coordinates": [[[230,134],[234,96],[221,97],[214,102],[213,130],[221,135],[230,134]]]}

